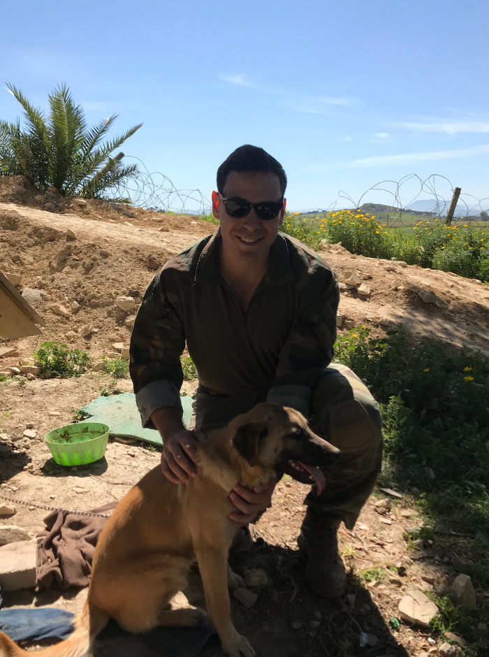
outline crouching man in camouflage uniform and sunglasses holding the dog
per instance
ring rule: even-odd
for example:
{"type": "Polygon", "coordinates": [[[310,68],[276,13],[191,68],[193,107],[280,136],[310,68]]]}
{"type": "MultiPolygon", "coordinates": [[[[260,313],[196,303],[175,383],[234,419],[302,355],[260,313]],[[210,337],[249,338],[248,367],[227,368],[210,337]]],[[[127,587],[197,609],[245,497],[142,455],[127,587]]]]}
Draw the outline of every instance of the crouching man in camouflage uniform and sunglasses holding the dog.
{"type": "MultiPolygon", "coordinates": [[[[300,410],[313,431],[341,449],[313,487],[298,544],[306,579],[319,595],[344,591],[337,547],[353,528],[381,464],[377,402],[348,368],[331,365],[340,298],[337,278],[309,247],[279,233],[286,174],[263,149],[235,150],[217,171],[212,212],[219,229],[170,260],[146,291],[131,338],[131,377],[143,426],[163,438],[170,481],[197,472],[190,438],[226,424],[256,403],[300,410]],[[194,431],[182,424],[180,355],[185,342],[198,373],[194,431]]],[[[276,482],[230,498],[246,524],[270,506],[276,482]]]]}

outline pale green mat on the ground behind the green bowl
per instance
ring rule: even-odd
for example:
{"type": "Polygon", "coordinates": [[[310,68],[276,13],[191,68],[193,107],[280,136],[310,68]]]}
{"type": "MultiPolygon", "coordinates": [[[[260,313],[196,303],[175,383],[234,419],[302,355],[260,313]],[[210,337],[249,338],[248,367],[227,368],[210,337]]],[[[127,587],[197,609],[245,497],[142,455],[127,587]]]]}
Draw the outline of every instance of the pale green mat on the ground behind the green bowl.
{"type": "MultiPolygon", "coordinates": [[[[192,398],[180,397],[184,410],[183,423],[188,428],[192,417],[192,398]]],[[[110,397],[97,397],[80,409],[87,413],[94,422],[108,424],[109,435],[118,435],[121,438],[134,438],[145,440],[153,445],[163,445],[161,435],[154,429],[143,429],[141,417],[136,406],[136,396],[132,392],[110,397]]]]}

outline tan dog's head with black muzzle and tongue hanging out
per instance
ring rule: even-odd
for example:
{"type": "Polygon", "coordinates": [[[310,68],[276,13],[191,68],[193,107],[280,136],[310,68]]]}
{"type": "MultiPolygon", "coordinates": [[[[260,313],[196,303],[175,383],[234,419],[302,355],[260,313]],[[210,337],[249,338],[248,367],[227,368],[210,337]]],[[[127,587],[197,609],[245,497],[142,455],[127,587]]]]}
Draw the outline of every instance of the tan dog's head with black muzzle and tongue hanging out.
{"type": "Polygon", "coordinates": [[[293,408],[258,404],[234,419],[233,446],[249,465],[284,472],[303,484],[316,482],[318,493],[326,484],[319,467],[334,463],[340,450],[319,438],[307,420],[293,408]]]}

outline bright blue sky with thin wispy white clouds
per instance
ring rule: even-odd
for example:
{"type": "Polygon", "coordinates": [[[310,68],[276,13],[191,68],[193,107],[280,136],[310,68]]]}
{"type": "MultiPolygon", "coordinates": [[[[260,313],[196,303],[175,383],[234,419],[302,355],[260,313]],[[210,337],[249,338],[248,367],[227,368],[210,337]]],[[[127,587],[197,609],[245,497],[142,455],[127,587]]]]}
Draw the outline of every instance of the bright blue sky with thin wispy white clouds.
{"type": "MultiPolygon", "coordinates": [[[[124,152],[207,198],[243,143],[282,162],[291,210],[409,173],[481,198],[488,19],[486,0],[24,0],[2,7],[0,78],[39,106],[67,82],[89,122],[143,122],[124,152]]],[[[2,85],[0,117],[19,109],[2,85]]]]}

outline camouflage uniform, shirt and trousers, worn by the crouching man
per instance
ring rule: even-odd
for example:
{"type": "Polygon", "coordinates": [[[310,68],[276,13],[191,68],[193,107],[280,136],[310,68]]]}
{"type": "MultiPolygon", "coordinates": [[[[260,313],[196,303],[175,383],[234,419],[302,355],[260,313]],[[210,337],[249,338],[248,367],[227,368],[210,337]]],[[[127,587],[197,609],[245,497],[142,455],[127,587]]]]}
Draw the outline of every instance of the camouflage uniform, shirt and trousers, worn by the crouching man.
{"type": "Polygon", "coordinates": [[[318,254],[279,233],[246,312],[219,270],[219,230],[170,260],[147,288],[131,336],[131,378],[143,426],[156,408],[181,410],[185,342],[199,387],[194,423],[226,424],[256,403],[294,407],[342,450],[326,489],[306,504],[352,528],[381,463],[379,406],[349,368],[331,363],[340,300],[318,254]]]}

